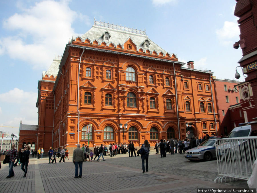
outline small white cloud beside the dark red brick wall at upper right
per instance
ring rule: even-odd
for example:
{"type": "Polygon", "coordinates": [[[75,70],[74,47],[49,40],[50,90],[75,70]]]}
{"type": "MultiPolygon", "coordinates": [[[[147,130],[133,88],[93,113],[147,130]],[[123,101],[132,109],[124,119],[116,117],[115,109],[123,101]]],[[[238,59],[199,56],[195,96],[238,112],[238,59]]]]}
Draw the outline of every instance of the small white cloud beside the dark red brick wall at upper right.
{"type": "Polygon", "coordinates": [[[234,38],[239,39],[240,30],[236,21],[225,21],[221,29],[216,30],[216,35],[222,44],[233,43],[234,38]]]}

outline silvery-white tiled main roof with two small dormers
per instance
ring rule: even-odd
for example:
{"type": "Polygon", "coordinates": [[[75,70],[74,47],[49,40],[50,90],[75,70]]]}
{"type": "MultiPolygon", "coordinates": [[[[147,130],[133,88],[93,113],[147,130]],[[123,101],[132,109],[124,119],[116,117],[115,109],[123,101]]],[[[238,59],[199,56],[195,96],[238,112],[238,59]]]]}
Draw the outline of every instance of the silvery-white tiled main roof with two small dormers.
{"type": "MultiPolygon", "coordinates": [[[[76,40],[78,36],[73,36],[72,40],[76,40]]],[[[115,47],[117,45],[121,45],[122,48],[124,43],[130,38],[136,45],[137,51],[142,48],[144,51],[146,50],[145,47],[142,47],[142,43],[147,39],[150,44],[148,45],[148,50],[152,53],[154,50],[159,54],[162,52],[164,55],[167,53],[164,49],[158,46],[156,43],[151,41],[148,36],[146,35],[145,31],[132,29],[128,27],[121,27],[109,23],[97,22],[95,21],[93,27],[89,29],[84,35],[79,36],[84,42],[86,39],[89,39],[90,43],[93,41],[98,41],[99,45],[105,42],[107,46],[110,43],[113,43],[115,47]],[[108,40],[104,40],[102,38],[103,34],[108,32],[110,34],[110,38],[108,40]]],[[[172,53],[173,54],[173,53],[172,53]]],[[[172,54],[169,53],[171,56],[172,54]]]]}

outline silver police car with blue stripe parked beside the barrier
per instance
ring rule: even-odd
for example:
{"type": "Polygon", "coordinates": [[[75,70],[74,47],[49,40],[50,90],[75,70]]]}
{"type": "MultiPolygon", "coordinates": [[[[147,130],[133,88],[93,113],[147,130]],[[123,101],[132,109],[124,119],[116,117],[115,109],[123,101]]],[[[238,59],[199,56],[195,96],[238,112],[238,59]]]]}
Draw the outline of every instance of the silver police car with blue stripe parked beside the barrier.
{"type": "Polygon", "coordinates": [[[185,158],[188,160],[206,160],[210,161],[216,158],[215,138],[205,140],[199,146],[185,151],[185,158]]]}

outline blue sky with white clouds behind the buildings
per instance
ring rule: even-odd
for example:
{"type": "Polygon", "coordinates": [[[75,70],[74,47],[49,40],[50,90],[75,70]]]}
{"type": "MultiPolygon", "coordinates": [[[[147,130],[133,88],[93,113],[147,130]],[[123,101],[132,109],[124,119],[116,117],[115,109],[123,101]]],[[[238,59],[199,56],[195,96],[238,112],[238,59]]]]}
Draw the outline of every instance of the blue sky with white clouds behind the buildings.
{"type": "MultiPolygon", "coordinates": [[[[72,35],[94,18],[146,29],[149,39],[179,61],[234,79],[242,57],[238,18],[231,0],[0,1],[0,126],[37,124],[37,85],[72,35]]],[[[241,81],[244,81],[242,71],[241,81]]],[[[19,128],[0,127],[18,134],[19,128]]]]}

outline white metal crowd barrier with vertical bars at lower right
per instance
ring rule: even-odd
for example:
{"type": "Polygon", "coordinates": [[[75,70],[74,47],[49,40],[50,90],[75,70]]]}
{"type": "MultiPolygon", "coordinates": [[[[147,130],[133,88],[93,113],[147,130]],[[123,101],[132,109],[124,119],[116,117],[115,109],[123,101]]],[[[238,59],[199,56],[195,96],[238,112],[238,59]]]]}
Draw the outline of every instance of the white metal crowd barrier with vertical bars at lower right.
{"type": "Polygon", "coordinates": [[[257,158],[257,137],[223,138],[215,141],[219,176],[214,183],[248,180],[257,158]]]}

